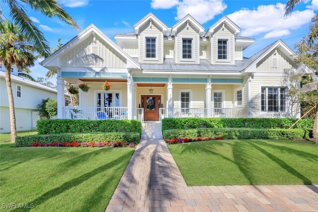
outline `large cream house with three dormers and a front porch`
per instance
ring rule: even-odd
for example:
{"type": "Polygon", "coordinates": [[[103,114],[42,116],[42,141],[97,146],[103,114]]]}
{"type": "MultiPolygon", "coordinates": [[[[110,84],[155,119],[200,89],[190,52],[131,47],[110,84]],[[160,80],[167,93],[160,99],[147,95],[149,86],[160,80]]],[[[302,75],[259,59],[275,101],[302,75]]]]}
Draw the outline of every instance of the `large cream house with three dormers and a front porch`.
{"type": "Polygon", "coordinates": [[[301,67],[282,40],[245,58],[254,39],[227,16],[205,29],[190,15],[167,27],[149,13],[134,28],[115,44],[91,24],[41,63],[58,72],[58,118],[300,116],[282,80],[284,69],[301,67]],[[64,80],[91,86],[76,110],[62,103],[64,80]]]}

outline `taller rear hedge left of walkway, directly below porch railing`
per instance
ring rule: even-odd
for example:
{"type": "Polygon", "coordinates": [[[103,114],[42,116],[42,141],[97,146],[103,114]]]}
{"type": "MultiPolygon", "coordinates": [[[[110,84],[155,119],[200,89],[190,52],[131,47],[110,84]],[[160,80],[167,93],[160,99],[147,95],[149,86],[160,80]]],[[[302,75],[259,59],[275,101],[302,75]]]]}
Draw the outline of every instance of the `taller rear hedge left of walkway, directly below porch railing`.
{"type": "Polygon", "coordinates": [[[47,119],[36,124],[38,134],[127,132],[141,135],[141,122],[136,120],[47,119]]]}

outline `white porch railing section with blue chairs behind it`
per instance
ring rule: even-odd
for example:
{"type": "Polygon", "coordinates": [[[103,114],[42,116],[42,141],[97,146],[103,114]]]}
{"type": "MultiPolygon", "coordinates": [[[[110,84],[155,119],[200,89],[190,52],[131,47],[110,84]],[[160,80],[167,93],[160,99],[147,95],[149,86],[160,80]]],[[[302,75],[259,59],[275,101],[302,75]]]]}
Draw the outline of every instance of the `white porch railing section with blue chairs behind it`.
{"type": "Polygon", "coordinates": [[[127,119],[127,107],[78,107],[66,106],[65,119],[127,119]]]}

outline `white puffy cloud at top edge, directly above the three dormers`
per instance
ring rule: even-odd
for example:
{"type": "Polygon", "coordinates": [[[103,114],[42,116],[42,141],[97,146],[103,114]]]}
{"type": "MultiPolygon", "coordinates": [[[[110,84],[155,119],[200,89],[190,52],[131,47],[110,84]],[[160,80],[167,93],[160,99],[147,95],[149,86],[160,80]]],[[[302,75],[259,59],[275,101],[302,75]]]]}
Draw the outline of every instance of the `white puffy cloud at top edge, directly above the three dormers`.
{"type": "Polygon", "coordinates": [[[212,20],[227,8],[223,0],[152,0],[151,2],[151,7],[154,9],[169,9],[175,5],[176,20],[190,14],[201,24],[212,20]]]}

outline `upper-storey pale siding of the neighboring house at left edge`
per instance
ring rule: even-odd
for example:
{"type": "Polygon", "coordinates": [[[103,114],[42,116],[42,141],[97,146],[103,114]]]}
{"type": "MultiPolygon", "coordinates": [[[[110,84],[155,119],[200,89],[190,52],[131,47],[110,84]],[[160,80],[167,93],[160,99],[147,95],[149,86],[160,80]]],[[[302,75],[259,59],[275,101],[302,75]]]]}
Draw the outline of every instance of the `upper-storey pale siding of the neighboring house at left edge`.
{"type": "MultiPolygon", "coordinates": [[[[20,83],[18,81],[11,81],[11,87],[13,92],[13,100],[15,108],[25,108],[37,110],[38,104],[42,102],[42,99],[47,98],[57,98],[56,92],[47,91],[41,88],[36,88],[29,86],[25,83],[20,83]],[[16,85],[21,86],[21,98],[16,97],[16,85]]],[[[6,91],[6,84],[3,78],[0,79],[0,106],[8,107],[8,94],[6,91]]]]}

